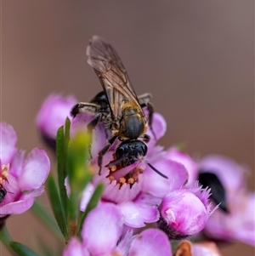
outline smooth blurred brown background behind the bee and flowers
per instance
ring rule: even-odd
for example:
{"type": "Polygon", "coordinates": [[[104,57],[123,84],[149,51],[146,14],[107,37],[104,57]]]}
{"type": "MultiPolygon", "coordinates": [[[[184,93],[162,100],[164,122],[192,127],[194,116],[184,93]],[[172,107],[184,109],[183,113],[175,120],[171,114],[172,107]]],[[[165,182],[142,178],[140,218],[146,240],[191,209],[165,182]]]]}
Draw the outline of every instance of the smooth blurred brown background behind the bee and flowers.
{"type": "MultiPolygon", "coordinates": [[[[116,48],[137,94],[153,94],[167,119],[162,145],[184,141],[192,156],[244,162],[254,190],[253,11],[252,0],[3,0],[1,118],[14,126],[20,148],[44,147],[34,123],[45,97],[54,91],[90,100],[101,90],[86,62],[96,34],[116,48]]],[[[31,213],[9,218],[8,229],[36,249],[35,236],[47,234],[31,213]]],[[[51,236],[46,241],[56,246],[51,236]]],[[[222,252],[254,253],[242,243],[222,252]]]]}

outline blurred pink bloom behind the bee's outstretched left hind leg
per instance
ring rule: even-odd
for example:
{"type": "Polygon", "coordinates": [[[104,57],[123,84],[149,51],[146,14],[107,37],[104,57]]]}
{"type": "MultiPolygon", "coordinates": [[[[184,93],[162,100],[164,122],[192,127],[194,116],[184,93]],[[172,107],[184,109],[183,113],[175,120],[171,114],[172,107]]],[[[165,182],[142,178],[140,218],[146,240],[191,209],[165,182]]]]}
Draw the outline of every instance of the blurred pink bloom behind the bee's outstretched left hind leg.
{"type": "Polygon", "coordinates": [[[70,111],[76,103],[75,97],[63,97],[61,94],[50,94],[44,100],[36,121],[43,139],[48,142],[55,140],[58,128],[65,124],[66,117],[71,118],[70,111]]]}

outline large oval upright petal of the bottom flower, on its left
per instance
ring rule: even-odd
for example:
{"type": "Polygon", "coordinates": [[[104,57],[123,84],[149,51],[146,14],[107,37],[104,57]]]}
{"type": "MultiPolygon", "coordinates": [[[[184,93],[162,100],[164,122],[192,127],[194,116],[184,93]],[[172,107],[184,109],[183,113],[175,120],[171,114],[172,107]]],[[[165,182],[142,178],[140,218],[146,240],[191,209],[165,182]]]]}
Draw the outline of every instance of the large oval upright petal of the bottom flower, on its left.
{"type": "Polygon", "coordinates": [[[88,213],[82,227],[85,247],[93,255],[111,252],[122,234],[122,213],[112,203],[104,203],[88,213]]]}

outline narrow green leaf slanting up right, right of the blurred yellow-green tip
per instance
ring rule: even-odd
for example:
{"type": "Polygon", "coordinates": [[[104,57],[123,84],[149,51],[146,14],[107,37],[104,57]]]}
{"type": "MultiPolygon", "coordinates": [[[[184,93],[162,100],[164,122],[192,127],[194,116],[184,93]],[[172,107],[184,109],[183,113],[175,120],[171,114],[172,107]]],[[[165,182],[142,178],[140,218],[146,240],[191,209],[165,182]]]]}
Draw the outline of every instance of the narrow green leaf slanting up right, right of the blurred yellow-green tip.
{"type": "Polygon", "coordinates": [[[83,222],[84,222],[86,216],[88,215],[88,213],[98,205],[99,200],[103,194],[103,191],[104,191],[104,184],[100,183],[95,188],[94,193],[88,202],[87,208],[81,215],[80,223],[78,225],[78,234],[81,233],[83,222]]]}

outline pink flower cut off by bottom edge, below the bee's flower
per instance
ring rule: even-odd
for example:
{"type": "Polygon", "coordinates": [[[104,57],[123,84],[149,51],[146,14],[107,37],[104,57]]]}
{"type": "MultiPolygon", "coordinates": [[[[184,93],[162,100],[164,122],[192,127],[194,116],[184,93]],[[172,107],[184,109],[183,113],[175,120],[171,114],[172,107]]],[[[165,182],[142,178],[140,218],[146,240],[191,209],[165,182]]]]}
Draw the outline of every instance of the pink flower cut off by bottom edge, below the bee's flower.
{"type": "Polygon", "coordinates": [[[122,255],[171,256],[170,243],[161,230],[144,230],[138,236],[123,234],[122,214],[113,203],[104,203],[88,213],[82,226],[82,242],[72,238],[63,256],[122,255]]]}

